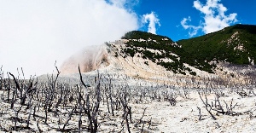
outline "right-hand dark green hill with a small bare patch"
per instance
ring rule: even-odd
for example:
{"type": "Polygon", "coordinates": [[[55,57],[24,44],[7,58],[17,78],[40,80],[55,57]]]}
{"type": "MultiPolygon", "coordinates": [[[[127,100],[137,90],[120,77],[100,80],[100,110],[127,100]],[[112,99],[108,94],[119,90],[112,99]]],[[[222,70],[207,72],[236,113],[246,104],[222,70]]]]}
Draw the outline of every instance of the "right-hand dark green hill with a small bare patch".
{"type": "Polygon", "coordinates": [[[256,26],[230,26],[218,32],[180,40],[177,43],[200,60],[249,65],[256,59],[256,26]]]}

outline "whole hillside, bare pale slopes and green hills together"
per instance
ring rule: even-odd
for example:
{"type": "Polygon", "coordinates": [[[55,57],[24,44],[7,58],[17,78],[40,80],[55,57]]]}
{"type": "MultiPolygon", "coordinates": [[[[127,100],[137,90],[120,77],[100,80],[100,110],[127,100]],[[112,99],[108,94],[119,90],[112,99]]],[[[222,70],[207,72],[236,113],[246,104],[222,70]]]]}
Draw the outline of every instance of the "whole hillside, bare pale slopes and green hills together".
{"type": "Polygon", "coordinates": [[[240,82],[252,73],[255,26],[235,25],[198,38],[173,42],[148,32],[127,32],[120,40],[84,49],[61,67],[61,73],[125,74],[153,82],[177,78],[230,78],[240,82]],[[248,66],[249,65],[249,66],[248,66]]]}

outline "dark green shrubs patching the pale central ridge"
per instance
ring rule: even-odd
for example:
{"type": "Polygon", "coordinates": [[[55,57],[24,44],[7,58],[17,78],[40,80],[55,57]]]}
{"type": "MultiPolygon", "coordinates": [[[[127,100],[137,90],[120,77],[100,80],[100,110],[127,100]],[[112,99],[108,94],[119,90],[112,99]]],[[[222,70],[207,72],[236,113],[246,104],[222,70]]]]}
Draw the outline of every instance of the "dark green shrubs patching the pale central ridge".
{"type": "Polygon", "coordinates": [[[180,45],[174,43],[172,39],[165,36],[154,35],[148,32],[127,32],[122,39],[128,39],[123,52],[137,55],[165,67],[167,71],[175,73],[196,75],[195,72],[184,64],[196,67],[206,72],[212,72],[212,67],[208,63],[198,60],[194,55],[189,54],[180,45]]]}

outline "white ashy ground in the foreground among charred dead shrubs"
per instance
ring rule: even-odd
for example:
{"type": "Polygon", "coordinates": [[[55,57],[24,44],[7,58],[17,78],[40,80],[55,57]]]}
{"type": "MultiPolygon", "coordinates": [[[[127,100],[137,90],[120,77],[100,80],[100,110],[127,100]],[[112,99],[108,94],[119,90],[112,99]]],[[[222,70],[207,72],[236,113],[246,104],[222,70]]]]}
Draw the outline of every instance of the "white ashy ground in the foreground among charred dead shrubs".
{"type": "MultiPolygon", "coordinates": [[[[3,90],[0,91],[0,95],[6,94],[3,90]]],[[[132,113],[132,123],[131,132],[140,132],[143,128],[144,132],[255,132],[256,127],[256,99],[254,97],[244,97],[237,95],[235,92],[230,93],[228,91],[224,92],[224,97],[220,98],[220,101],[226,101],[229,103],[233,99],[233,103],[237,103],[234,111],[236,113],[242,113],[237,116],[229,115],[216,115],[214,116],[217,120],[213,120],[209,113],[207,113],[204,105],[199,98],[199,95],[195,90],[189,91],[189,99],[183,99],[182,97],[177,97],[177,105],[172,107],[168,101],[157,101],[150,98],[143,99],[139,101],[139,97],[134,98],[130,102],[131,113],[132,113]],[[199,120],[199,112],[197,107],[201,107],[202,120],[199,120]],[[145,109],[146,108],[146,109],[145,109]],[[145,113],[143,116],[143,111],[145,113]],[[250,111],[250,113],[246,113],[250,111]],[[143,118],[143,119],[142,119],[143,118]],[[142,119],[141,124],[140,119],[142,119]],[[143,125],[144,124],[144,125],[143,125]]],[[[214,95],[208,95],[208,101],[214,100],[214,95]]],[[[20,107],[19,104],[15,104],[15,107],[20,107]]],[[[26,107],[22,107],[19,119],[26,121],[29,111],[25,110],[26,107]]],[[[0,125],[1,130],[10,130],[10,127],[14,125],[14,121],[11,120],[15,117],[13,109],[10,109],[10,104],[0,101],[1,117],[0,125]]],[[[61,113],[67,113],[67,110],[58,107],[61,113]]],[[[106,103],[102,104],[99,113],[99,124],[100,127],[98,132],[127,132],[125,125],[121,123],[122,119],[122,109],[119,108],[115,112],[115,116],[108,113],[106,103]],[[124,128],[124,129],[123,129],[124,128]]],[[[49,113],[48,124],[44,124],[44,109],[41,107],[39,112],[36,113],[40,117],[32,118],[29,127],[31,131],[38,131],[37,121],[39,122],[39,127],[44,132],[57,132],[58,117],[54,113],[49,113]]],[[[67,119],[68,114],[61,114],[61,124],[60,128],[63,126],[67,119]]],[[[83,116],[83,128],[87,127],[87,117],[83,116]]],[[[17,122],[17,126],[26,127],[26,123],[17,122]]],[[[69,121],[66,129],[78,129],[78,115],[73,115],[72,119],[69,121]]],[[[17,132],[27,132],[29,130],[19,130],[17,132]]],[[[83,130],[86,132],[86,130],[83,130]]],[[[13,132],[15,132],[13,130],[13,132]]]]}

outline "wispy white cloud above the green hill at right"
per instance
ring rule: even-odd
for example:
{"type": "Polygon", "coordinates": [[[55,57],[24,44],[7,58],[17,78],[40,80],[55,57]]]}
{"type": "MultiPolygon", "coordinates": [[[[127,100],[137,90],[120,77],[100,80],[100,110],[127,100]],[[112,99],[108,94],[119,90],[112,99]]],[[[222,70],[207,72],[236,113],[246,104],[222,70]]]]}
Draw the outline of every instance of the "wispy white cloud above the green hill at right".
{"type": "MultiPolygon", "coordinates": [[[[225,12],[228,10],[222,3],[218,3],[221,0],[207,0],[207,3],[204,5],[199,0],[194,1],[194,8],[201,11],[204,14],[204,20],[201,23],[201,26],[189,26],[192,29],[201,27],[202,31],[205,33],[216,32],[223,29],[230,24],[235,23],[236,13],[226,15],[225,12]]],[[[183,22],[183,21],[182,21],[183,22]]],[[[186,26],[183,26],[186,29],[186,26]]]]}

